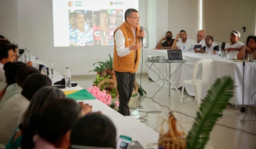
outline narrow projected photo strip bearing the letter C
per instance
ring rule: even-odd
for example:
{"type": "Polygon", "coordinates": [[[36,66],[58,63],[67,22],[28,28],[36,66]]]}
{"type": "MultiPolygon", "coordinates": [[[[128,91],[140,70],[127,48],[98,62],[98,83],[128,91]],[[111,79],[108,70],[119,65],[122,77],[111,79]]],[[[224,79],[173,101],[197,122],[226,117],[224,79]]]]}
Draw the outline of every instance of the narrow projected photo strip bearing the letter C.
{"type": "Polygon", "coordinates": [[[93,11],[92,16],[94,45],[100,45],[100,11],[93,11]]]}

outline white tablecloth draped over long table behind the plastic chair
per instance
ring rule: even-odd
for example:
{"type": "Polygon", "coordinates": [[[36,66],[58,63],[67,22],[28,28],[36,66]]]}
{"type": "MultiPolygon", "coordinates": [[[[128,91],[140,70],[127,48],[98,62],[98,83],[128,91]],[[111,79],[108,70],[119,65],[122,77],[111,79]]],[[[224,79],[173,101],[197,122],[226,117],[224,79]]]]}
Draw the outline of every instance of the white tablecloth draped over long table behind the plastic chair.
{"type": "MultiPolygon", "coordinates": [[[[167,50],[147,50],[147,55],[164,55],[166,58],[167,50]]],[[[214,58],[211,76],[210,76],[210,85],[214,83],[217,78],[222,76],[231,76],[234,80],[235,86],[237,86],[234,90],[234,98],[230,100],[230,103],[234,103],[235,105],[242,105],[242,78],[243,78],[243,66],[242,62],[234,62],[231,60],[227,60],[226,57],[221,58],[220,56],[216,55],[204,55],[200,53],[191,53],[191,52],[182,52],[183,59],[190,59],[191,62],[185,62],[181,65],[181,68],[171,77],[171,81],[174,83],[176,87],[182,87],[182,83],[184,80],[191,80],[194,70],[195,63],[202,58],[214,58]]],[[[168,65],[166,63],[156,63],[159,68],[167,73],[169,71],[168,65]]],[[[147,63],[147,65],[151,65],[151,63],[147,63]]],[[[171,63],[171,72],[173,72],[178,63],[171,63]]],[[[155,70],[158,74],[158,70],[151,67],[151,69],[155,70]]],[[[202,76],[202,67],[198,70],[198,78],[202,76]]],[[[162,79],[164,77],[159,75],[162,79]]],[[[149,69],[149,77],[159,83],[164,83],[163,80],[160,80],[159,77],[156,75],[155,72],[149,69]]],[[[192,85],[185,85],[186,91],[189,95],[195,96],[194,93],[194,86],[192,85]]],[[[245,96],[244,96],[244,104],[245,105],[252,105],[252,95],[256,91],[256,62],[245,62],[245,96]]],[[[207,87],[202,87],[202,97],[205,97],[207,92],[207,87]]]]}

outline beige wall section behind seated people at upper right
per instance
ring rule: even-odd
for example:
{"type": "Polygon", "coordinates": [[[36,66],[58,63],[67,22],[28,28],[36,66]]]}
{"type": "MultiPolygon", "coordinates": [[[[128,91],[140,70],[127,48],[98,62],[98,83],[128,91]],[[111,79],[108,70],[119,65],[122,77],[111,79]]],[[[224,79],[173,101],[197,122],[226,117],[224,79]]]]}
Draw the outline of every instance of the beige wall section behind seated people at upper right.
{"type": "Polygon", "coordinates": [[[203,0],[203,29],[220,42],[230,42],[231,31],[238,30],[243,42],[242,26],[246,27],[246,38],[255,35],[255,5],[255,0],[203,0]]]}

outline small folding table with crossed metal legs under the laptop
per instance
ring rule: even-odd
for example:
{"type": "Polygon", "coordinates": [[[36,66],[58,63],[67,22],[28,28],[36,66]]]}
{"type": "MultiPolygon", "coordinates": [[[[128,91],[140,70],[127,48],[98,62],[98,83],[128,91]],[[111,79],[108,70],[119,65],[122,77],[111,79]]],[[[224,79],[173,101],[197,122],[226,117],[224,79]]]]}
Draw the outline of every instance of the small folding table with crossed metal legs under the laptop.
{"type": "MultiPolygon", "coordinates": [[[[181,94],[181,92],[177,89],[177,87],[175,87],[175,85],[171,82],[171,76],[174,75],[174,73],[181,67],[182,63],[185,62],[190,62],[190,60],[188,59],[184,59],[182,61],[171,61],[168,59],[164,59],[164,60],[152,60],[152,59],[147,59],[145,62],[149,62],[152,63],[152,65],[154,65],[156,67],[157,70],[159,70],[159,72],[164,76],[165,78],[165,83],[163,83],[160,88],[156,91],[156,93],[152,96],[152,98],[157,94],[157,92],[164,86],[164,84],[166,84],[167,86],[167,81],[169,84],[169,97],[170,97],[170,90],[171,90],[171,85],[175,88],[175,90],[177,90],[179,92],[179,94],[181,94]],[[167,76],[167,72],[166,74],[164,74],[163,71],[161,71],[161,69],[155,64],[155,63],[164,63],[164,64],[169,64],[169,75],[167,76]],[[179,63],[179,66],[177,66],[177,68],[174,70],[174,72],[171,74],[171,63],[179,63]]],[[[150,66],[151,67],[151,66],[150,66]]],[[[150,69],[150,68],[149,68],[150,69]]],[[[185,99],[185,97],[183,96],[183,98],[185,99]]],[[[168,99],[168,89],[166,87],[166,100],[168,99]]]]}

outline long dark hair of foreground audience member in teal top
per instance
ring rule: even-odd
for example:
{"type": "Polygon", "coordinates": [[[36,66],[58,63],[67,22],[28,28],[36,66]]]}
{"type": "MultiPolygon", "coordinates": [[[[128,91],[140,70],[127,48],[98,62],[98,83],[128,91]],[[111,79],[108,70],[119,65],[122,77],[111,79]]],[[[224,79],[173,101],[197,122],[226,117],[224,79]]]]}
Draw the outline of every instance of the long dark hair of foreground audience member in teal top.
{"type": "MultiPolygon", "coordinates": [[[[24,132],[22,143],[31,142],[33,146],[32,138],[35,135],[35,130],[31,128],[29,122],[33,115],[42,115],[42,109],[45,105],[56,101],[57,99],[65,98],[63,91],[56,87],[46,86],[40,88],[32,97],[28,109],[24,113],[23,123],[21,126],[22,132],[24,132]]],[[[28,145],[28,143],[26,143],[28,145]]]]}

